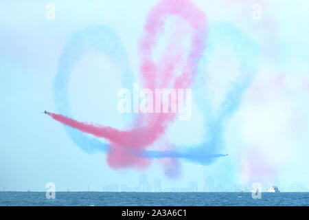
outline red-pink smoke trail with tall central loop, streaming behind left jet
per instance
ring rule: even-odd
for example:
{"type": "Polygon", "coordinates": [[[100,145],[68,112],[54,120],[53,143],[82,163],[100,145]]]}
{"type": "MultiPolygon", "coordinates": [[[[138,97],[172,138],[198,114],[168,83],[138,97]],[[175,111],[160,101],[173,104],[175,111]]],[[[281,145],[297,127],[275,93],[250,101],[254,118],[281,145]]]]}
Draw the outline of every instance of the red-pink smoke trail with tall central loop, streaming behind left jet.
{"type": "MultiPolygon", "coordinates": [[[[163,0],[150,12],[144,27],[145,36],[141,39],[139,52],[141,55],[141,76],[144,86],[148,89],[173,88],[185,89],[190,86],[196,65],[205,47],[206,19],[189,0],[163,0]],[[179,51],[179,41],[171,39],[158,63],[152,61],[153,47],[159,34],[163,32],[165,17],[176,15],[191,26],[191,51],[187,59],[184,52],[179,51]],[[183,64],[183,65],[181,65],[183,64]],[[180,76],[176,76],[176,67],[183,66],[180,76]]],[[[177,33],[179,36],[187,33],[177,33]]],[[[111,142],[111,151],[107,161],[112,168],[124,166],[143,167],[148,159],[139,158],[130,153],[132,149],[142,149],[151,145],[158,137],[165,133],[168,124],[175,119],[175,113],[141,113],[138,115],[134,128],[119,131],[109,126],[97,126],[85,122],[78,122],[64,115],[49,113],[49,115],[68,126],[84,133],[104,137],[111,142]]]]}

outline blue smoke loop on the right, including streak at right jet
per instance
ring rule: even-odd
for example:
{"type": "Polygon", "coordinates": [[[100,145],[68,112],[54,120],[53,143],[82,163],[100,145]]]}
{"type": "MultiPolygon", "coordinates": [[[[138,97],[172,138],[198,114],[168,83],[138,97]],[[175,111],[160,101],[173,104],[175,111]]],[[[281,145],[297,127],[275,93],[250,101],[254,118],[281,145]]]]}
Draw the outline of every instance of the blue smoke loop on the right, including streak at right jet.
{"type": "MultiPolygon", "coordinates": [[[[194,85],[194,89],[196,88],[194,98],[198,100],[199,108],[207,116],[205,117],[205,126],[209,133],[205,135],[205,142],[190,146],[190,148],[182,151],[147,151],[141,153],[141,156],[151,158],[179,157],[203,165],[211,164],[217,157],[224,157],[225,155],[218,152],[222,150],[225,144],[223,140],[225,124],[231,118],[231,115],[237,111],[244,91],[251,85],[253,77],[258,72],[258,59],[258,46],[249,36],[229,23],[210,23],[206,52],[194,85]],[[235,54],[241,61],[240,76],[233,80],[218,109],[213,109],[205,99],[207,88],[201,84],[203,82],[201,77],[203,77],[203,74],[208,74],[207,70],[205,72],[203,69],[210,62],[214,48],[220,43],[228,43],[233,46],[235,54]]],[[[178,148],[181,148],[181,146],[178,146],[178,148]]]]}

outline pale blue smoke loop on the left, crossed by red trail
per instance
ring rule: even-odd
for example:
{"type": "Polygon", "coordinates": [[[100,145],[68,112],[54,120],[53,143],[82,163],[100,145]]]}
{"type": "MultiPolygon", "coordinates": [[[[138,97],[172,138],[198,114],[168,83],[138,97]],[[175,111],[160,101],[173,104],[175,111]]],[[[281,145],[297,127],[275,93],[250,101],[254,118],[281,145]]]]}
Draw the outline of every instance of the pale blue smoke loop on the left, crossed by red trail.
{"type": "MultiPolygon", "coordinates": [[[[104,25],[93,25],[72,34],[60,56],[58,72],[54,82],[54,98],[56,110],[62,115],[71,117],[67,85],[69,76],[76,63],[89,50],[106,54],[116,63],[122,74],[122,85],[130,88],[133,85],[132,74],[129,71],[126,53],[117,34],[104,25]]],[[[85,73],[86,74],[86,73],[85,73]]],[[[89,137],[81,131],[65,126],[71,140],[87,153],[106,152],[109,144],[89,137]]]]}

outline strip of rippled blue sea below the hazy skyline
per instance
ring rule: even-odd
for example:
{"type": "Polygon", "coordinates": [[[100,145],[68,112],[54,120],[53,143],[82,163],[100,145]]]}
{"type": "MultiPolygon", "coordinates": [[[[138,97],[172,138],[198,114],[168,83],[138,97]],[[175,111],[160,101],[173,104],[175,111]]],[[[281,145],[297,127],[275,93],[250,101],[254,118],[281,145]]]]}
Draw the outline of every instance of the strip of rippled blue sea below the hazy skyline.
{"type": "Polygon", "coordinates": [[[0,192],[0,206],[309,206],[309,192],[0,192]]]}

